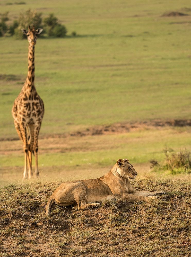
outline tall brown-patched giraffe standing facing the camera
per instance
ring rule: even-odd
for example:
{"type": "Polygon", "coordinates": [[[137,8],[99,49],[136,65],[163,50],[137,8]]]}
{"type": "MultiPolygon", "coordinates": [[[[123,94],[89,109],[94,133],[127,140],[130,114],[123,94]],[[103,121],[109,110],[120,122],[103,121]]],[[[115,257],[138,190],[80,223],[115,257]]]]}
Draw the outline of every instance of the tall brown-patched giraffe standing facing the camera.
{"type": "Polygon", "coordinates": [[[23,179],[27,179],[28,177],[31,178],[33,176],[32,153],[35,156],[34,175],[36,177],[39,175],[38,135],[44,115],[44,103],[34,87],[34,45],[36,44],[37,35],[42,32],[42,29],[35,30],[34,26],[32,28],[29,26],[28,31],[23,29],[22,32],[27,35],[27,40],[29,42],[28,73],[24,86],[14,101],[12,116],[14,119],[15,129],[20,140],[23,141],[23,179]]]}

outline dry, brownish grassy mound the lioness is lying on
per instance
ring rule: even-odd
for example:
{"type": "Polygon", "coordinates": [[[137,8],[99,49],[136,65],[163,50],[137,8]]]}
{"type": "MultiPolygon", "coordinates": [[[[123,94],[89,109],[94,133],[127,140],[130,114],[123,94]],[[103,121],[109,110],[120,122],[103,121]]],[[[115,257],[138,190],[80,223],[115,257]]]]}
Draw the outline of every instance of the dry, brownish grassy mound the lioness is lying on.
{"type": "Polygon", "coordinates": [[[0,256],[189,256],[188,175],[136,181],[137,190],[166,191],[150,203],[113,200],[85,211],[53,206],[50,217],[31,228],[59,184],[1,188],[0,256]]]}

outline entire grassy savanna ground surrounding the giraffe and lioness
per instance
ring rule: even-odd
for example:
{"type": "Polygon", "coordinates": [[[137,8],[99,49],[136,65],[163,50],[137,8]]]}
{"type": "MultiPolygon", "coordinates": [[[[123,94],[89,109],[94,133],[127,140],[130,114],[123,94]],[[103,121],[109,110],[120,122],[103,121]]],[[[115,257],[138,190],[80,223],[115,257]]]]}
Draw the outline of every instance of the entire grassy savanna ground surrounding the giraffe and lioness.
{"type": "Polygon", "coordinates": [[[0,38],[0,256],[190,256],[190,173],[150,168],[164,149],[191,151],[190,1],[24,2],[2,0],[1,13],[9,22],[29,8],[54,13],[68,33],[37,39],[40,176],[25,181],[11,109],[28,42],[0,38]],[[119,158],[138,172],[134,189],[165,194],[84,211],[53,206],[31,227],[61,182],[100,177],[119,158]]]}

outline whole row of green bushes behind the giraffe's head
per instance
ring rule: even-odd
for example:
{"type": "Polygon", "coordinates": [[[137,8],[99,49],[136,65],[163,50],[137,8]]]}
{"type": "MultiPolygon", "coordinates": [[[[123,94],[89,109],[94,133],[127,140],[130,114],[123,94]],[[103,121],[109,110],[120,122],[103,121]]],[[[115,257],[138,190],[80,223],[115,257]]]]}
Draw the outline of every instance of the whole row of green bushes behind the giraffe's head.
{"type": "Polygon", "coordinates": [[[22,39],[24,35],[21,29],[27,30],[29,25],[34,25],[36,29],[42,28],[48,37],[64,37],[67,33],[66,27],[58,22],[53,13],[42,19],[42,13],[29,9],[25,13],[20,13],[18,20],[14,20],[9,26],[6,23],[8,20],[8,12],[1,14],[0,36],[10,35],[22,39]]]}

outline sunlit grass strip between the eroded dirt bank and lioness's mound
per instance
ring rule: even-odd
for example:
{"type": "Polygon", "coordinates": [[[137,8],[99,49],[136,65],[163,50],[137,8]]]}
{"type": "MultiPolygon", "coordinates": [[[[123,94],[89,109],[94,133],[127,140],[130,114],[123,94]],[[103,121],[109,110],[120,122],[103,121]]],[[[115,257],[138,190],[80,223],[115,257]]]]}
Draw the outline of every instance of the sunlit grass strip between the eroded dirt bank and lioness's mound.
{"type": "MultiPolygon", "coordinates": [[[[99,177],[109,171],[119,158],[128,158],[137,167],[138,173],[141,170],[145,174],[151,159],[164,159],[165,148],[191,150],[187,127],[49,138],[41,139],[39,144],[40,178],[46,176],[48,180],[99,177]]],[[[1,142],[0,157],[2,183],[22,179],[24,156],[21,142],[1,142]]]]}

